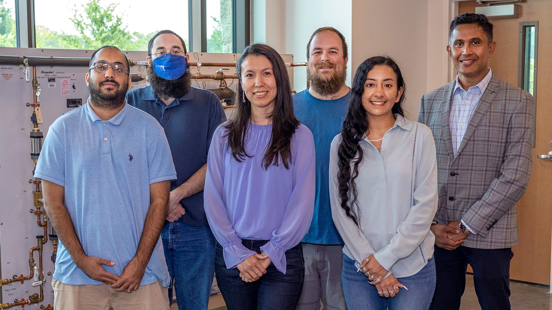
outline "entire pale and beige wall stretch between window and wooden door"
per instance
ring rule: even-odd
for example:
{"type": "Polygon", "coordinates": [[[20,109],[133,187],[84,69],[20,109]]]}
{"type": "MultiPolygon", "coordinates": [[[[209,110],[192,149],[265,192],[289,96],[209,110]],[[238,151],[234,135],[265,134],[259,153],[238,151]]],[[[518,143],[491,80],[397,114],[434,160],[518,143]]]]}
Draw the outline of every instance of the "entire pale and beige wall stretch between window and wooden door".
{"type": "MultiPolygon", "coordinates": [[[[395,58],[407,83],[405,110],[416,119],[421,96],[452,79],[446,46],[453,7],[447,0],[253,0],[253,41],[304,62],[312,31],[333,26],[349,45],[347,84],[366,58],[395,58]]],[[[294,89],[305,87],[305,67],[295,67],[294,89]]]]}

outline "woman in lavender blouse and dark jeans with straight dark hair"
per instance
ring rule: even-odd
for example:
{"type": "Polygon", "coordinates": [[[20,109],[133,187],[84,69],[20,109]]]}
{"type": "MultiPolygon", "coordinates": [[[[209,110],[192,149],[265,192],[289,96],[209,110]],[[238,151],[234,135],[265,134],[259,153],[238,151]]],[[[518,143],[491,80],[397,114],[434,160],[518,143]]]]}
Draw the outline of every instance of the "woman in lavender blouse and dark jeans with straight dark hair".
{"type": "Polygon", "coordinates": [[[229,310],[295,309],[300,241],[314,211],[314,140],[295,118],[277,51],[250,45],[237,65],[236,116],[216,129],[205,177],[216,280],[229,310]]]}

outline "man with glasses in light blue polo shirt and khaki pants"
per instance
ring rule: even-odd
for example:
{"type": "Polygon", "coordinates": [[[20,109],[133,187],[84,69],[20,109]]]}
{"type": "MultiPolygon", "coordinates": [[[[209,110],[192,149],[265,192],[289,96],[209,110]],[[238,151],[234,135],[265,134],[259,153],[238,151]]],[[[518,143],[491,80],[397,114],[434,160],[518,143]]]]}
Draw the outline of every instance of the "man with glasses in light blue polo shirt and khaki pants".
{"type": "Polygon", "coordinates": [[[87,104],[50,126],[36,166],[60,237],[55,309],[168,309],[160,239],[176,179],[163,128],[125,103],[129,62],[91,58],[87,104]]]}

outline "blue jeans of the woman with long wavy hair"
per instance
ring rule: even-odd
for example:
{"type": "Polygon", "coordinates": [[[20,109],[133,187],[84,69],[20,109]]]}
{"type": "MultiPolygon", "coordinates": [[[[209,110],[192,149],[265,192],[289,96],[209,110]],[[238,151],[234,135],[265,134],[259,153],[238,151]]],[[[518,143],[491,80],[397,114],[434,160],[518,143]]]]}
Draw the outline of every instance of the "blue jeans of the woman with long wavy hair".
{"type": "Polygon", "coordinates": [[[417,274],[397,278],[408,291],[401,288],[393,297],[380,297],[375,285],[371,285],[368,277],[357,272],[354,260],[343,254],[343,292],[349,310],[427,310],[433,291],[435,290],[435,261],[429,259],[427,265],[417,274]]]}

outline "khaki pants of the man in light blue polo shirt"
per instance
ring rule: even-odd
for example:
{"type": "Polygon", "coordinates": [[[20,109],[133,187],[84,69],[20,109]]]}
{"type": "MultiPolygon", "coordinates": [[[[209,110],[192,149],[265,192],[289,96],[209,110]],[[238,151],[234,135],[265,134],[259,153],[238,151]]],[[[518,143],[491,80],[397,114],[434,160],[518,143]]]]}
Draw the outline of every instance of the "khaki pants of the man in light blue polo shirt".
{"type": "Polygon", "coordinates": [[[161,281],[132,293],[115,292],[107,284],[69,285],[52,278],[54,310],[168,310],[168,291],[161,281]]]}

